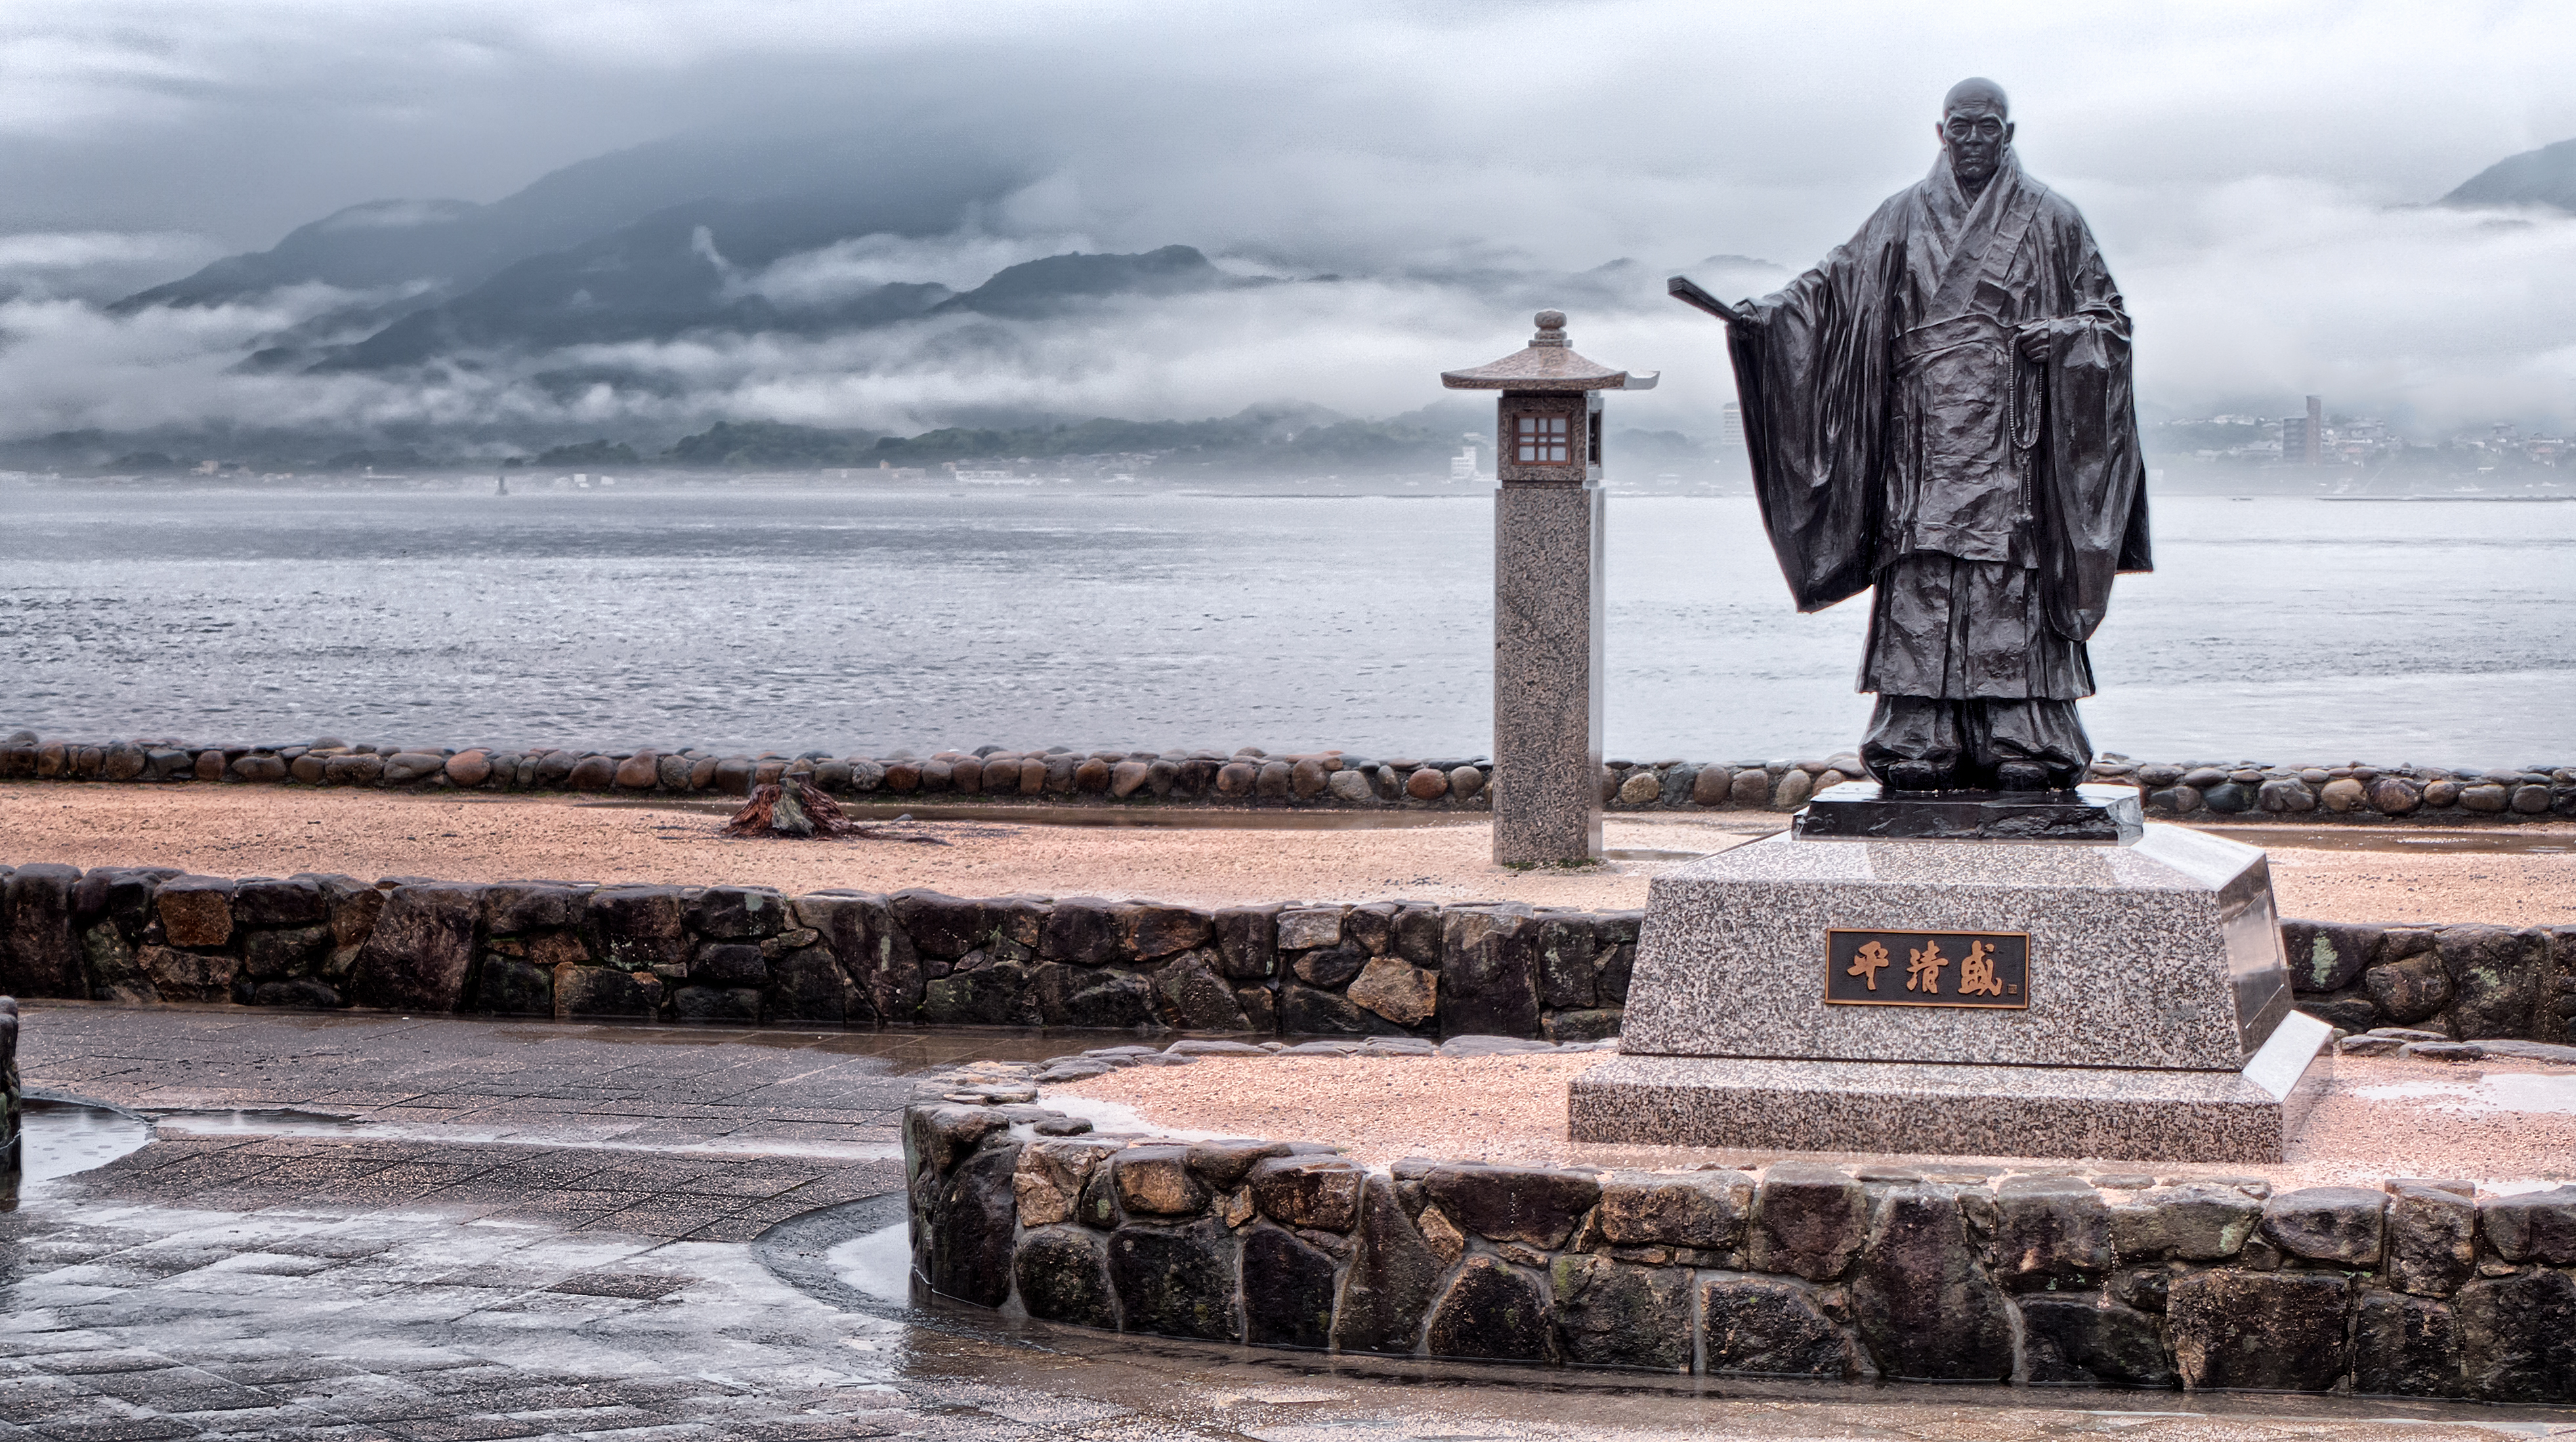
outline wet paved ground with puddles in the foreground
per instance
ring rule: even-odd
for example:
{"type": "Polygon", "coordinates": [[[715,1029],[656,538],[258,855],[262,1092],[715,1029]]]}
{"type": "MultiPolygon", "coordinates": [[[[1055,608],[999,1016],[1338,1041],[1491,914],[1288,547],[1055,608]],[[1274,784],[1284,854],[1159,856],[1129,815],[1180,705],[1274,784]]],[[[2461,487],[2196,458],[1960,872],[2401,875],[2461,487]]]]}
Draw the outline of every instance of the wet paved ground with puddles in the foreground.
{"type": "Polygon", "coordinates": [[[899,1187],[904,1071],[1066,1045],[31,1009],[31,1087],[216,1115],[0,1215],[0,1439],[2576,1437],[2535,1409],[1334,1362],[832,1306],[768,1264],[886,1210],[850,1200],[899,1187]]]}

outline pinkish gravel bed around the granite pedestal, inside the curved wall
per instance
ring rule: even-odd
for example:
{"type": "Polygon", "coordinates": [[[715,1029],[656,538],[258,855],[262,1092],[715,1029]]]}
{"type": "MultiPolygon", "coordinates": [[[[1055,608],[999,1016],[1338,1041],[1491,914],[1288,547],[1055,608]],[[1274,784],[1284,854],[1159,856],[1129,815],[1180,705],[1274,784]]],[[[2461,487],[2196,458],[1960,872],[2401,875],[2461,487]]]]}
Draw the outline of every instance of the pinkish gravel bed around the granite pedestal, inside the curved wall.
{"type": "MultiPolygon", "coordinates": [[[[1048,1087],[1043,1102],[1100,1130],[1146,1125],[1208,1136],[1332,1141],[1373,1164],[1401,1156],[1587,1166],[1762,1166],[1777,1151],[1592,1146],[1566,1141],[1566,1084],[1610,1053],[1479,1058],[1203,1056],[1195,1066],[1131,1066],[1048,1087]],[[1095,1107],[1108,1102],[1108,1107],[1095,1107]]],[[[2066,1159],[1834,1154],[1929,1169],[2066,1159]]],[[[2079,1164],[2076,1164],[2079,1166],[2079,1164]]],[[[2110,1164],[2110,1172],[2136,1172],[2110,1164]]],[[[2267,1174],[2277,1187],[2388,1177],[2532,1182],[2576,1177],[2576,1066],[2460,1066],[2336,1058],[2334,1087],[2280,1166],[2156,1164],[2161,1177],[2267,1174]]]]}

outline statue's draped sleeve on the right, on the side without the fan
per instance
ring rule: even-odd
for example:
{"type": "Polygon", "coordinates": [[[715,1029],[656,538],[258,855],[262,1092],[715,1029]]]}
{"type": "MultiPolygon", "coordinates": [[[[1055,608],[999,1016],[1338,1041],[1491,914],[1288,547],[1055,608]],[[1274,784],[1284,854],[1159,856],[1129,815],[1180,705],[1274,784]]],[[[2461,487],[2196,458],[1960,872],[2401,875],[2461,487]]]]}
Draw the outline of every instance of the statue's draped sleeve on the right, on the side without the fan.
{"type": "Polygon", "coordinates": [[[2146,458],[2130,384],[2130,322],[2081,216],[2050,237],[2074,314],[2053,322],[2043,368],[2045,420],[2035,456],[2040,592],[2048,623],[2084,641],[2110,610],[2120,572],[2151,569],[2146,458]]]}

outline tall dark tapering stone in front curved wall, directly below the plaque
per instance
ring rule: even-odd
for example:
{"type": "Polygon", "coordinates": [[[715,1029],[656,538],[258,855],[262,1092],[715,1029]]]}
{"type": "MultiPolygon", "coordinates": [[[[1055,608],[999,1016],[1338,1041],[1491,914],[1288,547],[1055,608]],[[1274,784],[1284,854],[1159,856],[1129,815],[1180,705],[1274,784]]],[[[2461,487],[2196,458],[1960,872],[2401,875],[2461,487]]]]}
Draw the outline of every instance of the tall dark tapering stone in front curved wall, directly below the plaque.
{"type": "Polygon", "coordinates": [[[2012,1303],[1976,1257],[1958,1192],[1878,1197],[1852,1275],[1852,1321],[1888,1378],[2012,1380],[2012,1303]]]}

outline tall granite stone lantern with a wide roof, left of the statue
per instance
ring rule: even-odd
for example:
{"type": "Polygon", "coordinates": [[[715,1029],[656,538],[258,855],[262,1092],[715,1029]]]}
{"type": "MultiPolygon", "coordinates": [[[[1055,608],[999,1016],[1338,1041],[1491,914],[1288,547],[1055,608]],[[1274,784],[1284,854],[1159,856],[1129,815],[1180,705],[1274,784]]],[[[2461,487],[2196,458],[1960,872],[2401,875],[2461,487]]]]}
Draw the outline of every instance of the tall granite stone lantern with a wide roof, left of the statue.
{"type": "Polygon", "coordinates": [[[1538,312],[1515,355],[1443,371],[1502,391],[1494,430],[1494,860],[1602,855],[1602,391],[1654,389],[1566,345],[1538,312]]]}

